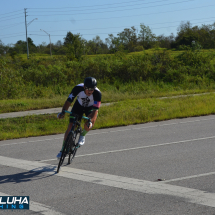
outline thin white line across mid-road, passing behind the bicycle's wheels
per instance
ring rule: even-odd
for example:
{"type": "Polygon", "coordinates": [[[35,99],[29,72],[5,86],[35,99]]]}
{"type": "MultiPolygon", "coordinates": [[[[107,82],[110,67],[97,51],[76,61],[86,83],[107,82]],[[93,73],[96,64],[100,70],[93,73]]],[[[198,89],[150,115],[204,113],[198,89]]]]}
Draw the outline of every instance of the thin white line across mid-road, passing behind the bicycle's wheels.
{"type": "MultiPolygon", "coordinates": [[[[208,140],[208,139],[214,139],[214,138],[215,138],[215,136],[201,137],[201,138],[191,139],[191,140],[181,140],[181,141],[177,141],[177,142],[161,143],[161,144],[149,145],[149,146],[139,146],[139,147],[135,147],[135,148],[119,149],[119,150],[106,151],[106,152],[97,152],[97,153],[91,153],[91,154],[77,155],[76,158],[77,157],[86,157],[86,156],[93,156],[93,155],[108,154],[108,153],[124,152],[124,151],[137,150],[137,149],[152,148],[152,147],[158,147],[158,146],[173,145],[173,144],[178,144],[178,143],[189,143],[189,142],[194,142],[194,141],[199,141],[199,140],[208,140]]],[[[52,160],[56,160],[56,158],[55,159],[49,159],[49,160],[41,160],[39,162],[47,162],[47,161],[52,161],[52,160]]]]}

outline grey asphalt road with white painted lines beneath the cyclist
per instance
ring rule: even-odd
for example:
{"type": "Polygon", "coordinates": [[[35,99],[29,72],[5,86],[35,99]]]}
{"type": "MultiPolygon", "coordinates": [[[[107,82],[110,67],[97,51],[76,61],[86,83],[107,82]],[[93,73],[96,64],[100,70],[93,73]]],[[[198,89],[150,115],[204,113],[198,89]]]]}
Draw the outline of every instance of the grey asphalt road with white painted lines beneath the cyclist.
{"type": "Polygon", "coordinates": [[[59,174],[63,134],[0,141],[0,196],[30,196],[0,214],[215,215],[214,131],[214,115],[94,130],[59,174]]]}

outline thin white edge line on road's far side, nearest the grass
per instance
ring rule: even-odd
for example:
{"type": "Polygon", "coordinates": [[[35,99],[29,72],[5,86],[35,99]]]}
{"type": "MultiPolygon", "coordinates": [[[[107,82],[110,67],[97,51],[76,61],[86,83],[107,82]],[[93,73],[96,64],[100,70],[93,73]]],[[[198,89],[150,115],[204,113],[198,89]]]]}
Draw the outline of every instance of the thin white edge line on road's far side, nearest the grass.
{"type": "MultiPolygon", "coordinates": [[[[152,126],[145,126],[145,127],[139,127],[139,128],[131,128],[131,129],[121,129],[121,130],[112,130],[112,131],[108,131],[108,132],[98,132],[98,133],[89,133],[87,134],[88,136],[93,136],[93,135],[99,135],[99,134],[108,134],[108,133],[113,133],[113,132],[126,132],[128,130],[140,130],[140,129],[147,129],[147,128],[156,128],[156,127],[162,127],[162,126],[171,126],[171,125],[177,125],[177,124],[185,124],[185,123],[195,123],[195,122],[201,122],[201,121],[206,121],[206,120],[214,120],[215,118],[209,118],[209,119],[200,119],[200,120],[193,120],[193,121],[186,121],[186,122],[176,122],[176,123],[165,123],[165,124],[161,124],[161,125],[152,125],[152,126]]],[[[28,141],[28,142],[20,142],[20,143],[7,143],[7,144],[2,144],[1,146],[9,146],[9,145],[14,145],[14,144],[22,144],[22,143],[29,143],[29,142],[45,142],[45,141],[51,141],[51,140],[59,140],[59,139],[63,139],[63,136],[60,138],[51,138],[51,139],[43,139],[43,140],[35,140],[35,141],[28,141]]],[[[1,142],[1,141],[0,141],[1,142]]]]}

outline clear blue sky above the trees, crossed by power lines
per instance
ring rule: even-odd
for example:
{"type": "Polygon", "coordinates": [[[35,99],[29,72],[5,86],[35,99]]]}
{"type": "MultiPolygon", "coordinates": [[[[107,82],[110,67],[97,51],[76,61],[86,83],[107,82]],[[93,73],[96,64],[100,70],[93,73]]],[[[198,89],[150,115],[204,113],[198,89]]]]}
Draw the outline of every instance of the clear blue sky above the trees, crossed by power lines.
{"type": "Polygon", "coordinates": [[[35,45],[64,41],[67,32],[105,42],[125,28],[149,26],[156,36],[177,35],[182,22],[192,26],[215,22],[215,0],[0,0],[0,40],[13,45],[26,41],[35,45]]]}

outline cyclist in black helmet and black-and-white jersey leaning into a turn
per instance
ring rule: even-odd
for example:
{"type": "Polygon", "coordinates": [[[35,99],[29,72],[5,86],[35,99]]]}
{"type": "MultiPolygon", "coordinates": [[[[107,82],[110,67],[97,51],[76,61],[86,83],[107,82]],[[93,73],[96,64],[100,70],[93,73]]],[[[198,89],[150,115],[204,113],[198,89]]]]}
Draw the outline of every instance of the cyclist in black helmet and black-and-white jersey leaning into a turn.
{"type": "MultiPolygon", "coordinates": [[[[72,107],[72,114],[70,115],[70,122],[68,125],[68,128],[64,135],[63,145],[66,141],[67,135],[69,134],[72,124],[73,124],[73,114],[78,114],[82,116],[85,114],[87,117],[91,118],[91,123],[88,125],[88,122],[85,123],[84,129],[79,137],[79,146],[84,145],[85,143],[85,135],[87,132],[92,129],[92,127],[95,124],[95,121],[97,119],[98,110],[101,105],[101,92],[96,87],[97,81],[93,77],[87,77],[84,79],[84,83],[76,85],[72,92],[70,93],[68,99],[66,100],[65,104],[63,105],[62,112],[58,114],[58,118],[62,119],[65,115],[65,110],[68,110],[71,103],[74,101],[75,97],[77,96],[77,100],[75,101],[75,104],[72,107]]],[[[62,149],[63,149],[62,145],[62,149]]],[[[61,151],[57,154],[57,158],[60,159],[61,151]]]]}

